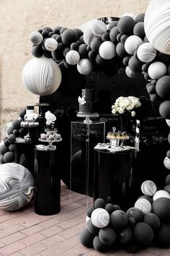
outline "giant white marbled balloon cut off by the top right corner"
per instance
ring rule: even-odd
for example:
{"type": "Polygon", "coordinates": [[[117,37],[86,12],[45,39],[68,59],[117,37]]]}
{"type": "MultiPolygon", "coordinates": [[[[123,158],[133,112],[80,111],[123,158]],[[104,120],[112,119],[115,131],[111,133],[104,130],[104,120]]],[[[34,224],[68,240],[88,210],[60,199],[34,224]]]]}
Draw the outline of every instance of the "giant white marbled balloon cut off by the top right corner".
{"type": "Polygon", "coordinates": [[[149,42],[163,54],[170,54],[170,1],[152,0],[146,9],[144,29],[149,42]]]}

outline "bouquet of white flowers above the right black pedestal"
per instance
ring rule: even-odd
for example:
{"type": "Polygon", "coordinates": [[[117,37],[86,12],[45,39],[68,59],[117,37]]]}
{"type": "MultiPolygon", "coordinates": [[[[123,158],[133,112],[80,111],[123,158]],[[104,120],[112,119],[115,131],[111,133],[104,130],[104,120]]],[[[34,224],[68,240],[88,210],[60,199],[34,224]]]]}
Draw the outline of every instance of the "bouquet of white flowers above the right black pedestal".
{"type": "Polygon", "coordinates": [[[134,108],[138,108],[141,106],[141,103],[138,98],[134,96],[128,97],[119,97],[112,105],[112,114],[124,114],[125,112],[130,111],[132,116],[135,116],[134,108]]]}

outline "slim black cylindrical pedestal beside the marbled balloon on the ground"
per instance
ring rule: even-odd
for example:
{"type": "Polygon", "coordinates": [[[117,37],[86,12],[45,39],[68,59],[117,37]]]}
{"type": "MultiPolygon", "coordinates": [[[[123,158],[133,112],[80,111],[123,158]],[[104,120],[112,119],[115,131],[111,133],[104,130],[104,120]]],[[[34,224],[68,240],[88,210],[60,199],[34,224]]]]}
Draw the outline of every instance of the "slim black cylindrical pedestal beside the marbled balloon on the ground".
{"type": "Polygon", "coordinates": [[[35,149],[35,213],[53,215],[61,210],[61,179],[55,150],[35,149]]]}

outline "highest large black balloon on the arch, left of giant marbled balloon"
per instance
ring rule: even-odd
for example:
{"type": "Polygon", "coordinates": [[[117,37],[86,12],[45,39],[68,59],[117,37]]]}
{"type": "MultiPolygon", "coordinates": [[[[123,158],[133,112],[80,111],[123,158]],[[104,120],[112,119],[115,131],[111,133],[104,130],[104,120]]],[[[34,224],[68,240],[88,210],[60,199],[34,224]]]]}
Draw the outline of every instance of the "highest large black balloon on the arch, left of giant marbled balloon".
{"type": "Polygon", "coordinates": [[[135,21],[130,16],[121,17],[117,23],[117,29],[120,31],[121,34],[125,35],[132,35],[133,34],[133,27],[135,25],[135,21]]]}

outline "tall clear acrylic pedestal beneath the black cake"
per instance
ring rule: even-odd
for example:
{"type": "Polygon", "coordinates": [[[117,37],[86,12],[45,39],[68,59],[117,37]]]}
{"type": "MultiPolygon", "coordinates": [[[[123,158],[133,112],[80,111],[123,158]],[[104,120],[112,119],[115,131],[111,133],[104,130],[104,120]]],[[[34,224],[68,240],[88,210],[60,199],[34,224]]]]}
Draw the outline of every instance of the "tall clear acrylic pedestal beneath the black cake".
{"type": "MultiPolygon", "coordinates": [[[[71,122],[71,201],[76,201],[74,192],[93,197],[94,146],[98,142],[104,142],[104,138],[105,122],[71,122]]],[[[86,205],[88,206],[88,197],[86,197],[86,205]]]]}

